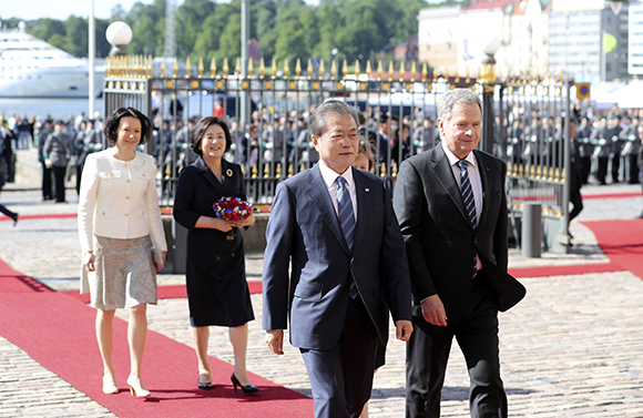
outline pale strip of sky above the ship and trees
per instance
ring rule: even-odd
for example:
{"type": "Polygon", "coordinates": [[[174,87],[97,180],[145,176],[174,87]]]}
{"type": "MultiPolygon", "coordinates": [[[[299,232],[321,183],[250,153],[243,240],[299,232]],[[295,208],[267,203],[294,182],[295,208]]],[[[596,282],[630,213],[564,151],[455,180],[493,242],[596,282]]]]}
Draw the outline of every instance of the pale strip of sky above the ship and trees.
{"type": "MultiPolygon", "coordinates": [[[[0,0],[0,19],[20,18],[24,20],[35,20],[40,18],[51,18],[67,20],[70,14],[86,18],[90,14],[92,0],[0,0]]],[[[99,19],[111,17],[112,8],[121,4],[129,11],[136,1],[151,4],[153,0],[93,0],[94,16],[99,19]]],[[[308,4],[318,4],[319,0],[305,0],[308,4]]],[[[183,0],[174,0],[176,7],[183,0]]]]}

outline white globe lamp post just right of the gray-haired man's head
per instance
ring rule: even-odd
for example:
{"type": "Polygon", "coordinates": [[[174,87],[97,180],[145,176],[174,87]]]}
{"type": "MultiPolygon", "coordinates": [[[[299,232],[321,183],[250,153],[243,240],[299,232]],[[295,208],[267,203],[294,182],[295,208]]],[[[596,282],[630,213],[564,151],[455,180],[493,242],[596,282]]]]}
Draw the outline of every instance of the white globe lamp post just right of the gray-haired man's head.
{"type": "Polygon", "coordinates": [[[502,41],[493,37],[487,47],[482,50],[484,59],[482,60],[482,151],[493,154],[493,93],[496,91],[496,59],[493,55],[500,47],[502,41]]]}

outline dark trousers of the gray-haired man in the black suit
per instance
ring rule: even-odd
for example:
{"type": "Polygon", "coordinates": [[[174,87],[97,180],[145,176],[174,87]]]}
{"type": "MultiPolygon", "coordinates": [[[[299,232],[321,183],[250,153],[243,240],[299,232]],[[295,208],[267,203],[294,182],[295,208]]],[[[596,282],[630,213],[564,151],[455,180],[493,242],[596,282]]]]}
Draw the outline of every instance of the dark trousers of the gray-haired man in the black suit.
{"type": "Polygon", "coordinates": [[[439,418],[440,396],[453,337],[465,355],[472,418],[507,418],[507,395],[500,378],[498,305],[481,275],[473,279],[469,306],[460,318],[433,326],[414,317],[407,343],[407,418],[439,418]]]}

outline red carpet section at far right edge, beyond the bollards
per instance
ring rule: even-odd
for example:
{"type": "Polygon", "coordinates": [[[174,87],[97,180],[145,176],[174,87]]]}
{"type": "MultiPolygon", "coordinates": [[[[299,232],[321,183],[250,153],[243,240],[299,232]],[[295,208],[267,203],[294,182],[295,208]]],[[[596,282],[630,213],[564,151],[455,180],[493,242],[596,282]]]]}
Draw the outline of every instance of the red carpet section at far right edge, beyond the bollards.
{"type": "Polygon", "coordinates": [[[643,220],[583,221],[603,253],[643,278],[643,220]]]}

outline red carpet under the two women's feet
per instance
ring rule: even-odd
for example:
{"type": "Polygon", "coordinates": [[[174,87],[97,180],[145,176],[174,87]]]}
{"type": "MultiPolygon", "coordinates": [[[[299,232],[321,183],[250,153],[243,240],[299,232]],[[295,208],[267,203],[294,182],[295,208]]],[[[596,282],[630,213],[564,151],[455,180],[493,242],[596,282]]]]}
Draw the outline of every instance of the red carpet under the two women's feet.
{"type": "Polygon", "coordinates": [[[114,364],[121,392],[103,395],[94,317],[93,308],[38,285],[0,261],[0,335],[119,417],[313,416],[313,399],[257,375],[251,375],[261,388],[257,396],[235,394],[229,383],[233,366],[214,357],[210,358],[214,388],[197,390],[194,350],[154,332],[147,333],[143,364],[152,397],[131,397],[125,384],[127,324],[119,318],[114,322],[114,364]]]}

